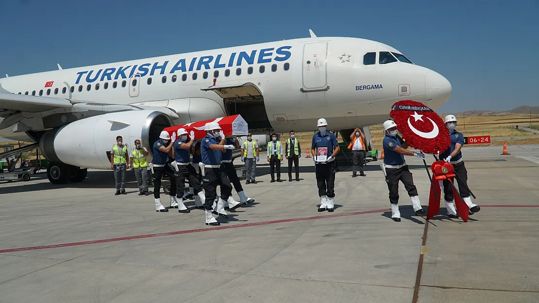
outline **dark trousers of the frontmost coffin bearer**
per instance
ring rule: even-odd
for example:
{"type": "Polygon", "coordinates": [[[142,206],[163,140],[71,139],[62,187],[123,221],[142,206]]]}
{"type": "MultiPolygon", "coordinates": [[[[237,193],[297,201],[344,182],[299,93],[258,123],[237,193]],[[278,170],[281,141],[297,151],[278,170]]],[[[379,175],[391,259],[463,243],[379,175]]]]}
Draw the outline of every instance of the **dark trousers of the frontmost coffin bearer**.
{"type": "Polygon", "coordinates": [[[204,168],[204,176],[202,177],[202,187],[204,188],[204,194],[206,200],[204,201],[204,208],[206,210],[212,210],[213,201],[217,196],[217,185],[221,187],[220,197],[223,201],[227,201],[232,192],[232,185],[230,185],[229,178],[226,177],[225,170],[222,167],[219,168],[204,168]]]}

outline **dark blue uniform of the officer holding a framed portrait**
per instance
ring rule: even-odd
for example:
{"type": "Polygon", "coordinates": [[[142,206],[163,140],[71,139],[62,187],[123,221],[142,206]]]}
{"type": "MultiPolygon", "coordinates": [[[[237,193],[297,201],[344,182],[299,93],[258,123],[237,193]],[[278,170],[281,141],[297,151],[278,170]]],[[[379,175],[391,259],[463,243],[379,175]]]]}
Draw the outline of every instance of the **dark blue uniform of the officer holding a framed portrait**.
{"type": "MultiPolygon", "coordinates": [[[[317,132],[313,136],[311,143],[312,149],[316,152],[317,147],[328,147],[327,156],[331,156],[335,147],[338,146],[337,137],[326,131],[326,135],[320,135],[317,132]]],[[[313,156],[316,156],[314,154],[313,156]]],[[[316,185],[318,186],[318,195],[327,196],[328,198],[335,197],[335,158],[328,163],[316,163],[316,185]]]]}

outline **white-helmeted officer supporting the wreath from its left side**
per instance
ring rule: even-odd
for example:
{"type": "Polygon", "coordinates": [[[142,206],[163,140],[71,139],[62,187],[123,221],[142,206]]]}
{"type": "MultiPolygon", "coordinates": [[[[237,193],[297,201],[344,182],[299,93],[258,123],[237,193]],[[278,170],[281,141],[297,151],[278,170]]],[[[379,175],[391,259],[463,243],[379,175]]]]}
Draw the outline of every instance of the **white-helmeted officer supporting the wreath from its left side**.
{"type": "Polygon", "coordinates": [[[397,124],[388,120],[383,124],[385,137],[382,141],[384,146],[384,171],[385,181],[389,188],[389,202],[391,203],[391,219],[400,222],[399,212],[399,180],[403,182],[404,188],[410,196],[412,207],[416,215],[424,215],[425,210],[421,207],[417,188],[413,184],[412,173],[404,161],[404,156],[416,156],[425,159],[425,154],[406,150],[409,146],[399,135],[397,135],[397,124]]]}

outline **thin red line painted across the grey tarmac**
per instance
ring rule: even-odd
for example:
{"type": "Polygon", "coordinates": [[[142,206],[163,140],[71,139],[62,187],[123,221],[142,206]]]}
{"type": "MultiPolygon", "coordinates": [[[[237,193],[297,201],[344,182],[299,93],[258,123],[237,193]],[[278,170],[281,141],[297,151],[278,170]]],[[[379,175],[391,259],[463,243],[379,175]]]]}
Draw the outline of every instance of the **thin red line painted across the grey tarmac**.
{"type": "MultiPolygon", "coordinates": [[[[539,205],[482,205],[481,207],[539,207],[539,205]]],[[[227,225],[227,226],[210,227],[210,228],[199,228],[199,229],[161,232],[159,234],[148,234],[148,235],[138,235],[138,236],[129,236],[129,237],[99,239],[99,240],[92,240],[92,241],[60,243],[60,244],[43,245],[43,246],[30,246],[30,247],[22,247],[22,248],[10,248],[10,249],[2,249],[2,250],[0,250],[0,253],[26,251],[26,250],[40,250],[40,249],[50,249],[50,248],[61,248],[61,247],[67,247],[67,246],[79,246],[79,245],[97,244],[97,243],[106,243],[106,242],[118,242],[118,241],[126,241],[126,240],[133,240],[133,239],[142,239],[142,238],[154,238],[154,237],[163,237],[163,236],[192,234],[194,232],[209,231],[209,230],[220,230],[220,229],[260,226],[260,225],[286,223],[286,222],[297,222],[297,221],[336,218],[336,217],[345,217],[345,216],[365,215],[365,214],[389,212],[390,210],[391,209],[389,209],[389,208],[386,208],[386,209],[374,209],[374,210],[365,210],[364,212],[354,212],[354,213],[343,213],[343,214],[333,214],[333,215],[323,215],[323,216],[313,216],[313,217],[281,219],[281,220],[255,222],[255,223],[243,223],[243,224],[235,224],[235,225],[227,225]]]]}

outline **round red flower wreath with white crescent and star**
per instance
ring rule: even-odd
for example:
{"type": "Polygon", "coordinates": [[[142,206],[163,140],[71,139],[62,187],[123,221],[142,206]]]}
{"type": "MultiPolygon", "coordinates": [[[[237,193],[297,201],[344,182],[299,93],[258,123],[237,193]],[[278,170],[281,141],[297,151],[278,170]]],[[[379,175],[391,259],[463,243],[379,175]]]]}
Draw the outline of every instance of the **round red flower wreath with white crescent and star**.
{"type": "Polygon", "coordinates": [[[436,154],[451,145],[444,121],[429,107],[412,100],[399,101],[389,113],[402,133],[402,138],[414,149],[436,154]]]}

